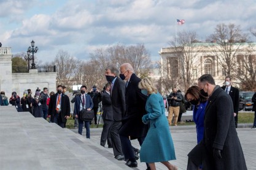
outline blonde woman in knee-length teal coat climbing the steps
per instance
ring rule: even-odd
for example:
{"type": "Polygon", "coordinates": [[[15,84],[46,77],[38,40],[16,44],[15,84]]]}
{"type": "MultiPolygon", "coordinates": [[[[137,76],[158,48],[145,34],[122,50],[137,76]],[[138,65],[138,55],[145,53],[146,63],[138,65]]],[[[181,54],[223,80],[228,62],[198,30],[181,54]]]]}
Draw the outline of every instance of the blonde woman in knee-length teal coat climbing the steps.
{"type": "Polygon", "coordinates": [[[147,114],[142,117],[142,122],[150,126],[141,146],[141,162],[149,163],[152,170],[156,169],[155,162],[165,164],[168,169],[177,169],[169,163],[169,160],[176,160],[176,156],[163,98],[150,78],[142,79],[139,88],[142,89],[142,94],[149,96],[145,106],[147,114]]]}

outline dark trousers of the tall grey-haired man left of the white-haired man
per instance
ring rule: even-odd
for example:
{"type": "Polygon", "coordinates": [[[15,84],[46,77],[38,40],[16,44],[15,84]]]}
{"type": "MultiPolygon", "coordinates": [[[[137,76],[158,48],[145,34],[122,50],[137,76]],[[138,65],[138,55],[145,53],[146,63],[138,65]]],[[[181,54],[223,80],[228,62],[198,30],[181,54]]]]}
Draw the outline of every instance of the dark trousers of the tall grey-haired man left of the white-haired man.
{"type": "Polygon", "coordinates": [[[118,130],[120,129],[121,126],[122,126],[121,121],[114,121],[113,124],[110,127],[112,147],[113,147],[113,151],[114,151],[115,156],[123,155],[120,136],[118,134],[118,130]]]}

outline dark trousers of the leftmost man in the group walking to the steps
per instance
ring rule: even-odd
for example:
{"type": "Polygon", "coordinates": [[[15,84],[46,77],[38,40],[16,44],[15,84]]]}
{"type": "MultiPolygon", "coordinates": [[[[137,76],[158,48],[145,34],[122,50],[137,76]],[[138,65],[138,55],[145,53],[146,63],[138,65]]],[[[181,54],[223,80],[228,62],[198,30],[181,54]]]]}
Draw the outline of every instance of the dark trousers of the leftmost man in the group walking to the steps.
{"type": "Polygon", "coordinates": [[[104,122],[104,125],[103,125],[103,131],[101,132],[101,146],[105,146],[107,141],[107,145],[112,147],[110,128],[114,123],[114,120],[103,119],[103,122],[104,122]]]}

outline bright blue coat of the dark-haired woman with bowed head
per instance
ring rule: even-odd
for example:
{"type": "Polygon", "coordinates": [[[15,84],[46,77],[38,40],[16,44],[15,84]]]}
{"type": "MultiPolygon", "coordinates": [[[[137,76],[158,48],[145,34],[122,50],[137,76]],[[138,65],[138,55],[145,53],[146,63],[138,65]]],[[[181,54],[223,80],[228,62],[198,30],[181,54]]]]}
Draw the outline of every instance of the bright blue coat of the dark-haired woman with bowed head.
{"type": "Polygon", "coordinates": [[[193,120],[196,124],[197,143],[199,143],[204,136],[204,113],[208,102],[200,103],[193,108],[193,120]]]}

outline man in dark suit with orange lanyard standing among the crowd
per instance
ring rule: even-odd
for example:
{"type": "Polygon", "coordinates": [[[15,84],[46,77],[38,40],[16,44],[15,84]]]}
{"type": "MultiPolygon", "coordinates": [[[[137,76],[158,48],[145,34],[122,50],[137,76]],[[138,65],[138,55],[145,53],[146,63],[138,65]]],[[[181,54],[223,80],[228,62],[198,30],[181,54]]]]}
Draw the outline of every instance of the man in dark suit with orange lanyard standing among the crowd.
{"type": "Polygon", "coordinates": [[[68,95],[62,93],[63,87],[58,85],[57,93],[50,97],[48,115],[53,116],[53,122],[64,128],[70,116],[70,102],[68,95]]]}

